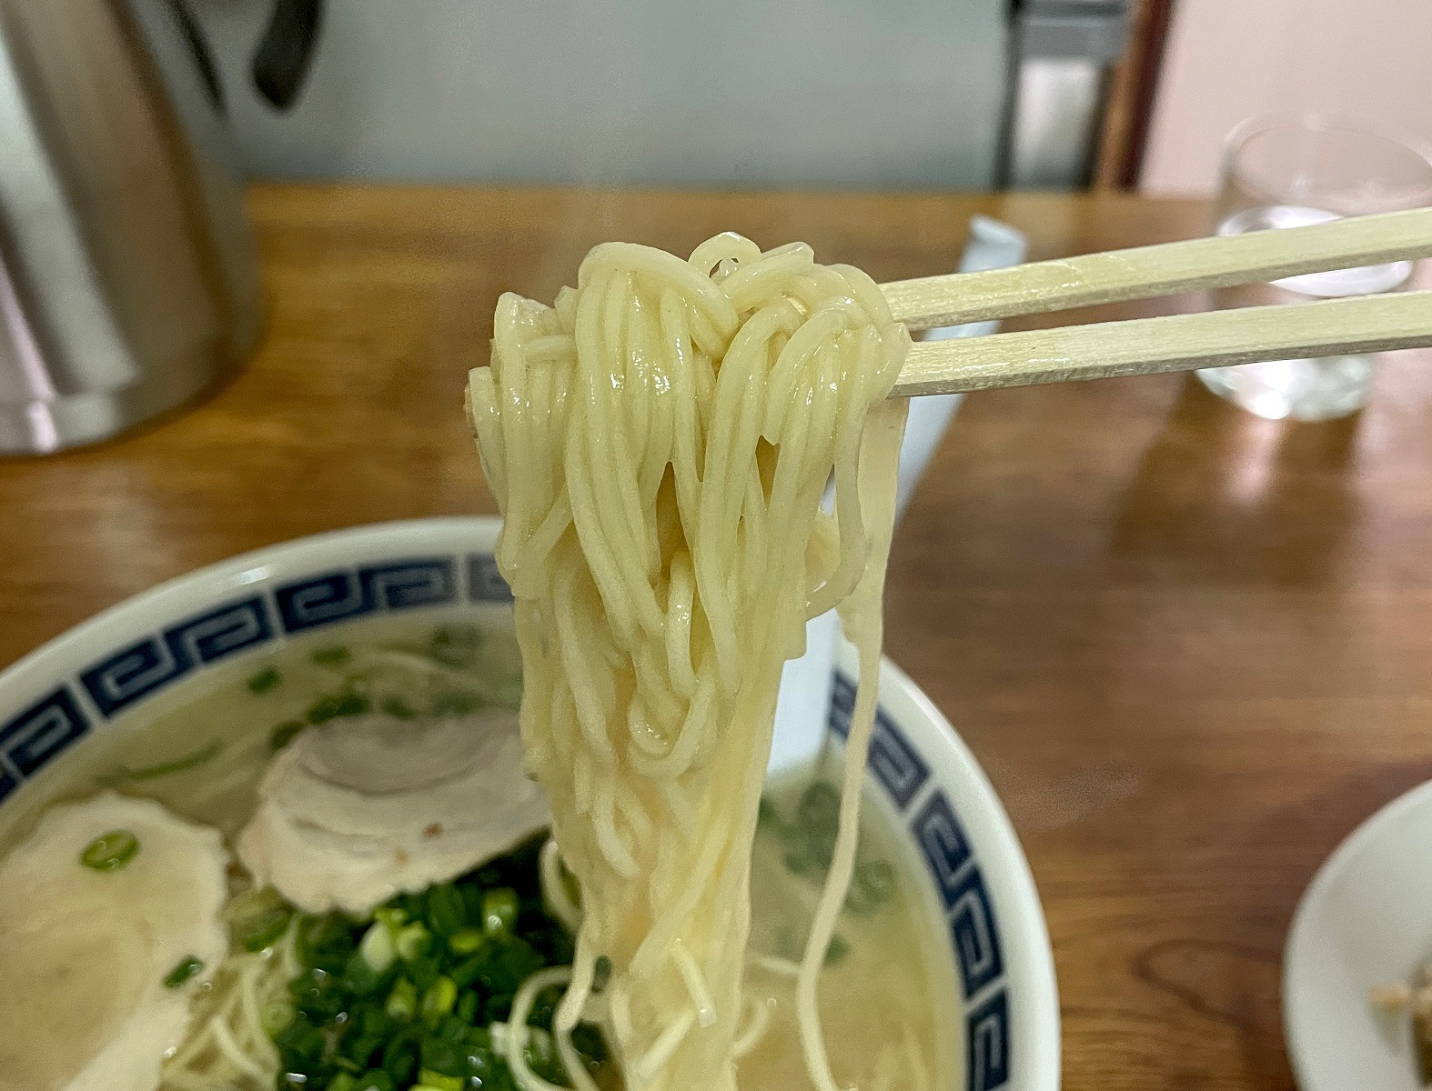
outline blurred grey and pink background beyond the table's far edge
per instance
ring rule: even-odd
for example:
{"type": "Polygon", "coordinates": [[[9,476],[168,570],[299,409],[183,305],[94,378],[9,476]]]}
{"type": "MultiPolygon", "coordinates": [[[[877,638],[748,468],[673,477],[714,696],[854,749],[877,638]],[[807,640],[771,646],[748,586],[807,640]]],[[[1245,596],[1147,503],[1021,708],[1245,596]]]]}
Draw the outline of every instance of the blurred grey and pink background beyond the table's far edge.
{"type": "Polygon", "coordinates": [[[1270,110],[1432,140],[1428,0],[328,0],[302,96],[268,0],[188,0],[258,176],[1211,192],[1270,110]]]}

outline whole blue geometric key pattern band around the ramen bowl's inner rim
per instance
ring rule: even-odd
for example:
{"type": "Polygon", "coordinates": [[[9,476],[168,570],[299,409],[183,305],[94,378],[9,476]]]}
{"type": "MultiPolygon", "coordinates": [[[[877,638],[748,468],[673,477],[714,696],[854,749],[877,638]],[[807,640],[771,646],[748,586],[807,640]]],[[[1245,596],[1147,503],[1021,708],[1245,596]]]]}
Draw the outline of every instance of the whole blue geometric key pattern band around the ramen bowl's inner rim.
{"type": "MultiPolygon", "coordinates": [[[[281,639],[365,614],[460,601],[510,603],[490,554],[408,557],[265,587],[116,649],[0,724],[0,800],[83,737],[200,667],[281,639]]],[[[855,683],[836,673],[829,730],[846,737],[855,683]]],[[[909,822],[944,898],[965,997],[967,1091],[1010,1080],[1010,1005],[994,911],[954,808],[929,783],[929,766],[876,709],[871,772],[909,822]],[[918,803],[918,806],[916,806],[918,803]]]]}

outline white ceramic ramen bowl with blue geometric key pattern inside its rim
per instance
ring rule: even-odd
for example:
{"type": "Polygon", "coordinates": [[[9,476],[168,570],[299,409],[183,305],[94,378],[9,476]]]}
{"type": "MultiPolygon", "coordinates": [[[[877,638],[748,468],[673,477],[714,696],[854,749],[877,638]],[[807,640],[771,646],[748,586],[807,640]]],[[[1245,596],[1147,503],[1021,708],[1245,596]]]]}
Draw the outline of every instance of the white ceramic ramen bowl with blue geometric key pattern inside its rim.
{"type": "MultiPolygon", "coordinates": [[[[507,601],[491,557],[498,525],[430,518],[301,538],[170,580],[72,629],[0,674],[0,808],[21,805],[26,782],[86,736],[211,664],[271,654],[322,626],[507,601]]],[[[851,677],[846,650],[829,713],[838,734],[851,677]]],[[[945,938],[935,979],[951,982],[951,995],[937,1004],[962,1024],[964,1087],[1054,1091],[1054,959],[1030,868],[974,756],[889,661],[869,767],[881,789],[872,799],[906,835],[909,873],[924,878],[919,899],[945,938]]]]}

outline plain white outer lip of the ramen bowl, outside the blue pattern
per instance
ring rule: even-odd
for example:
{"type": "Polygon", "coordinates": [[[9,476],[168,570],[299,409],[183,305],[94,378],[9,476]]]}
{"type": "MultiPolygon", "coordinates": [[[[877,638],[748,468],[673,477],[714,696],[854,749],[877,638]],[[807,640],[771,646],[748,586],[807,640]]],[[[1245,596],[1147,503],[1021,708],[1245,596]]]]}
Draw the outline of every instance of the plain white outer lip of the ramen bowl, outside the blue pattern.
{"type": "MultiPolygon", "coordinates": [[[[212,604],[221,596],[253,584],[309,576],[324,566],[357,567],[365,560],[418,556],[424,550],[491,553],[500,530],[501,518],[497,515],[432,515],[361,524],[262,546],[172,577],[100,610],[0,671],[0,720],[89,666],[96,651],[113,649],[136,633],[149,633],[155,624],[212,604]],[[458,541],[463,544],[455,544],[458,541]],[[107,634],[116,626],[122,630],[117,639],[107,634]]],[[[838,657],[838,666],[849,663],[852,654],[853,649],[848,647],[838,657]]],[[[1024,848],[968,745],[909,676],[884,656],[881,694],[881,707],[895,704],[894,714],[901,727],[909,730],[911,724],[918,724],[914,734],[939,755],[939,760],[931,763],[929,783],[957,789],[959,819],[965,828],[975,830],[977,856],[985,863],[998,862],[985,878],[997,902],[998,931],[1004,936],[1004,988],[1017,982],[1014,1007],[1021,1012],[1010,1042],[1011,1052],[1020,1058],[1018,1068],[1010,1074],[1008,1082],[998,1087],[1054,1091],[1060,1087],[1061,1057],[1058,986],[1048,926],[1024,848]],[[898,707],[901,704],[904,712],[898,707]],[[971,822],[972,818],[978,820],[971,822]]],[[[866,775],[871,775],[869,770],[866,775]]],[[[925,795],[932,795],[932,789],[922,787],[916,797],[925,795]]],[[[906,836],[914,836],[904,820],[902,828],[906,836]]],[[[958,981],[957,994],[961,1032],[968,1038],[964,1024],[967,1007],[981,994],[965,998],[958,981]]]]}

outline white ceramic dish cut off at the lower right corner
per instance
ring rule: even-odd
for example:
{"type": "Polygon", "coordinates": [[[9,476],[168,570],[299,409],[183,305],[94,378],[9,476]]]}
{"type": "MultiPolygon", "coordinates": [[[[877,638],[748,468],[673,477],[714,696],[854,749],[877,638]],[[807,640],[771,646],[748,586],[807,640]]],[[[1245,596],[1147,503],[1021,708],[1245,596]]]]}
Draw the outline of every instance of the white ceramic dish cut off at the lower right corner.
{"type": "Polygon", "coordinates": [[[1303,1091],[1419,1091],[1405,1018],[1368,989],[1432,958],[1432,783],[1337,846],[1299,902],[1283,951],[1283,1032],[1303,1091]]]}

